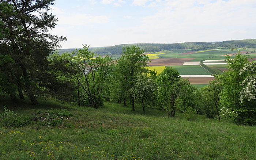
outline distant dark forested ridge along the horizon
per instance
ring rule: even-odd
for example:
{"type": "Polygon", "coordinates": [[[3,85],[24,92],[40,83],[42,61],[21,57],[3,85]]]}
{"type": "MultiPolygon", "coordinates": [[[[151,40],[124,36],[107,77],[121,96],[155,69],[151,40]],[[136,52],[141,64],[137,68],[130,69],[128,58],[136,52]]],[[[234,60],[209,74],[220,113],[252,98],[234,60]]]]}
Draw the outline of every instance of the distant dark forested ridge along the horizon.
{"type": "MultiPolygon", "coordinates": [[[[137,43],[137,44],[123,44],[110,47],[89,48],[89,51],[98,53],[100,55],[109,56],[120,55],[123,52],[123,47],[127,46],[139,46],[140,49],[144,49],[145,52],[159,52],[161,50],[175,50],[175,49],[191,49],[191,51],[208,50],[208,49],[236,49],[236,48],[248,48],[256,47],[256,39],[244,39],[240,41],[223,41],[216,43],[207,42],[187,42],[187,43],[173,43],[173,44],[161,44],[161,43],[137,43]]],[[[59,54],[63,52],[71,53],[75,49],[59,49],[59,54]]]]}

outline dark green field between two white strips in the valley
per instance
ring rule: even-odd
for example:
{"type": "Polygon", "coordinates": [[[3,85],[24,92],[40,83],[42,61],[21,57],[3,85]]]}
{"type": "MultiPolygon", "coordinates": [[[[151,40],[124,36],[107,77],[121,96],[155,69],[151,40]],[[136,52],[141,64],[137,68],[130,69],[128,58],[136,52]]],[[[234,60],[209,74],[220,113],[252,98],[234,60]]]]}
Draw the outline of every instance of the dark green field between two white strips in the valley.
{"type": "Polygon", "coordinates": [[[172,68],[176,68],[180,75],[210,75],[206,69],[201,67],[200,65],[175,65],[168,66],[172,68]]]}

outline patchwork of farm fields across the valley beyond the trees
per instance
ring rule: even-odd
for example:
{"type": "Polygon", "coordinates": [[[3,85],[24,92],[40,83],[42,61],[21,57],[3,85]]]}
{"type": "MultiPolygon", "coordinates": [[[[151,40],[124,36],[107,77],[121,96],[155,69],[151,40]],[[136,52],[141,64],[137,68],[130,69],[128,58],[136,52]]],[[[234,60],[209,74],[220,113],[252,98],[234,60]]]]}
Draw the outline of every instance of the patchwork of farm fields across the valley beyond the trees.
{"type": "MultiPolygon", "coordinates": [[[[240,48],[240,53],[245,54],[248,56],[248,60],[251,62],[251,58],[256,60],[256,53],[254,52],[255,48],[247,48],[242,49],[240,48]]],[[[211,50],[202,50],[202,51],[191,51],[189,49],[182,49],[182,50],[163,50],[163,52],[150,52],[148,54],[159,54],[157,56],[150,57],[151,63],[149,66],[171,66],[176,68],[180,75],[210,75],[206,69],[202,68],[199,65],[183,65],[184,62],[196,62],[202,61],[203,59],[204,64],[211,68],[213,71],[222,74],[223,71],[227,71],[225,67],[225,55],[230,55],[231,58],[234,58],[234,55],[237,54],[238,49],[211,49],[211,50]],[[161,54],[161,53],[165,54],[161,54]],[[153,59],[155,58],[155,59],[153,59]]],[[[158,70],[161,71],[161,70],[158,70]]],[[[159,73],[159,72],[157,72],[159,73]]],[[[185,77],[184,77],[185,78],[185,77]]],[[[208,81],[213,80],[213,77],[189,77],[189,82],[193,85],[198,85],[199,88],[207,85],[208,81]],[[200,86],[200,84],[202,84],[200,86]]]]}

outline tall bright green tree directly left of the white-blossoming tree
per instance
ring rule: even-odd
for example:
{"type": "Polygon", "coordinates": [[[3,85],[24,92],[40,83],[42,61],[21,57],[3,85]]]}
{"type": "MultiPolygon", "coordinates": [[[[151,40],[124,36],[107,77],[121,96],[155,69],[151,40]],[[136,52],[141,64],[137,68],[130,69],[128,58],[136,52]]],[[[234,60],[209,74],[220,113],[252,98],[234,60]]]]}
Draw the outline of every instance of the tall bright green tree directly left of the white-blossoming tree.
{"type": "Polygon", "coordinates": [[[226,56],[226,62],[228,69],[222,75],[218,75],[217,79],[220,81],[221,85],[224,86],[223,94],[221,96],[221,105],[224,108],[233,108],[234,113],[237,114],[235,121],[237,124],[242,125],[256,125],[256,109],[255,103],[240,101],[240,92],[243,89],[241,85],[246,79],[248,73],[241,72],[248,63],[248,58],[246,56],[241,56],[240,52],[235,56],[235,58],[230,58],[226,56]]]}

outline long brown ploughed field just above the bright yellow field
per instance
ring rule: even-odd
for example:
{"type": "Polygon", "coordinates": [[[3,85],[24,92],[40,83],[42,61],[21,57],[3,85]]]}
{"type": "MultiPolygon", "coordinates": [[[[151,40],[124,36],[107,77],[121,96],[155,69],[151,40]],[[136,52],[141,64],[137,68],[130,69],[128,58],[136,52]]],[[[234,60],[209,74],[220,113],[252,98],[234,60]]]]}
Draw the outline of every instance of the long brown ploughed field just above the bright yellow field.
{"type": "Polygon", "coordinates": [[[168,65],[182,65],[184,62],[191,61],[195,58],[158,58],[151,60],[149,66],[168,66],[168,65]]]}

